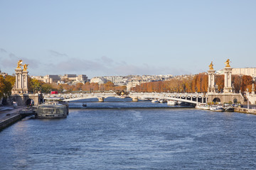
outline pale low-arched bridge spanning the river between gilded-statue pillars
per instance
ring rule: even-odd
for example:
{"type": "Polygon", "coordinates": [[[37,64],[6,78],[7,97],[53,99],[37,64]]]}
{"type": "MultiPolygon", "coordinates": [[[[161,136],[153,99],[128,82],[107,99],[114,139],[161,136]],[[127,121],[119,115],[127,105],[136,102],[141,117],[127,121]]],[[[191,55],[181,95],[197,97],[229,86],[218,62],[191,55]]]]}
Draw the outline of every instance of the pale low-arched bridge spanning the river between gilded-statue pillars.
{"type": "Polygon", "coordinates": [[[78,101],[86,98],[98,98],[99,101],[104,101],[105,98],[108,97],[117,97],[124,98],[129,97],[132,98],[132,101],[140,100],[171,100],[171,101],[183,101],[186,103],[207,103],[206,94],[187,94],[187,93],[129,93],[126,96],[119,96],[116,93],[97,93],[97,94],[44,94],[44,98],[49,97],[60,97],[63,98],[64,101],[78,101]]]}

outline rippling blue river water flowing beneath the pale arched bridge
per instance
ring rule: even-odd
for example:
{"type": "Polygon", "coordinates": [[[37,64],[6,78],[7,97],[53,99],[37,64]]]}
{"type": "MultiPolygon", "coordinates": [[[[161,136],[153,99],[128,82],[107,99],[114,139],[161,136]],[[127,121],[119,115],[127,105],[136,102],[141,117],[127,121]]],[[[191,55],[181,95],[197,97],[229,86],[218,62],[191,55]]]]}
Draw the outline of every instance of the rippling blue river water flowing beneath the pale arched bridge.
{"type": "Polygon", "coordinates": [[[0,169],[256,169],[256,115],[149,101],[87,106],[1,131],[0,169]]]}

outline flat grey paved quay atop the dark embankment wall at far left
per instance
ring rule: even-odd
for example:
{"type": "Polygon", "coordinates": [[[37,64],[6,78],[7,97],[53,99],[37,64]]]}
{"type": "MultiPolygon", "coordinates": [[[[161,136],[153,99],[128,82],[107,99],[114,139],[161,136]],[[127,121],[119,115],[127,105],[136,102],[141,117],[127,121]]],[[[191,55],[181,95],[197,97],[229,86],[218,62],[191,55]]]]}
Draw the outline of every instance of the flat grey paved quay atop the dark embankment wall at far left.
{"type": "Polygon", "coordinates": [[[24,107],[5,107],[0,109],[0,131],[7,128],[9,125],[16,123],[18,120],[22,119],[21,111],[24,107]]]}

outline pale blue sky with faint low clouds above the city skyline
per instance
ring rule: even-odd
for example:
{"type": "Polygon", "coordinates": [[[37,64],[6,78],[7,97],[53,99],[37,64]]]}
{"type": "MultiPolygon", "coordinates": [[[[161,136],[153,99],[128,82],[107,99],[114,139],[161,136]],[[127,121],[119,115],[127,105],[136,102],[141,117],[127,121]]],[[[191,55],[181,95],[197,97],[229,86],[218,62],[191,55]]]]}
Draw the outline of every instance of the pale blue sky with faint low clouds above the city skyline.
{"type": "Polygon", "coordinates": [[[0,0],[0,69],[197,74],[256,67],[256,1],[0,0]]]}

